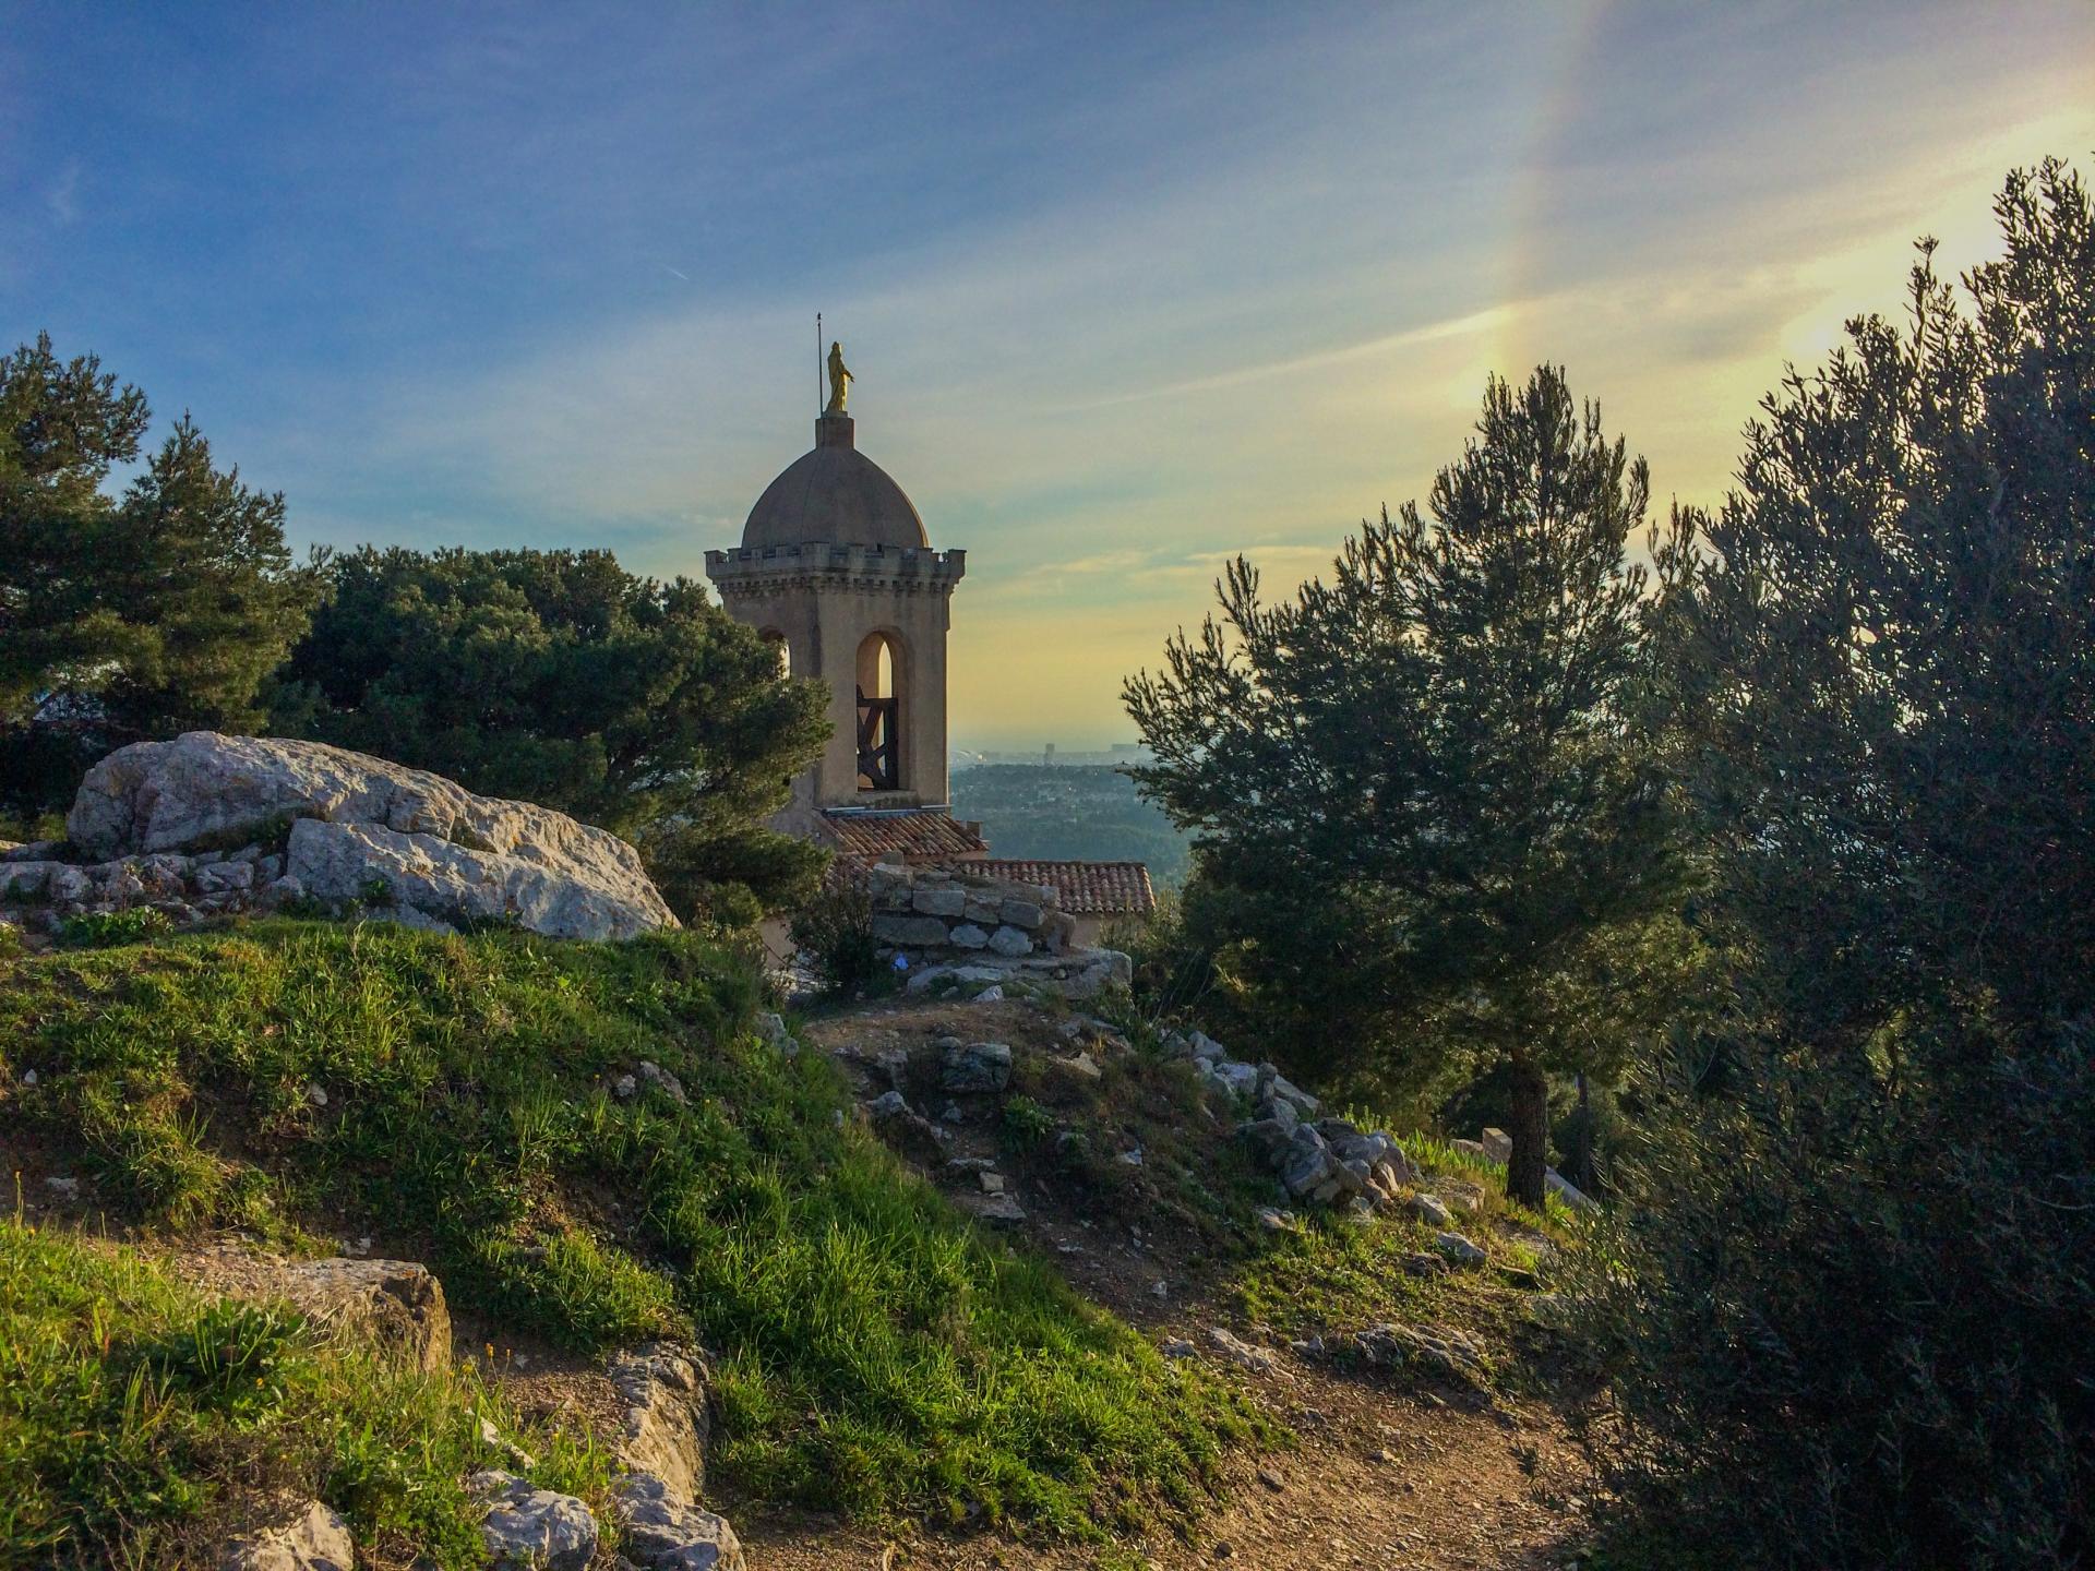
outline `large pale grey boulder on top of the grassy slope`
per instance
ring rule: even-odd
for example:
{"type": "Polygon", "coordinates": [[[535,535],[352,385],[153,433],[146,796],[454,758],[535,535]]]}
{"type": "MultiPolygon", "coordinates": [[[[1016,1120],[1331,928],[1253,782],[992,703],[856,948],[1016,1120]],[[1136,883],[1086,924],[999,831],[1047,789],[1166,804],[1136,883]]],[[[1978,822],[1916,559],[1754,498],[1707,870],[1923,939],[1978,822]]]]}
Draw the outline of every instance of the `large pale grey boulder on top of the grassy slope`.
{"type": "Polygon", "coordinates": [[[318,742],[138,742],[88,771],[65,823],[84,863],[23,846],[36,855],[0,863],[0,892],[61,913],[151,905],[178,922],[312,901],[553,938],[677,926],[618,836],[318,742]]]}

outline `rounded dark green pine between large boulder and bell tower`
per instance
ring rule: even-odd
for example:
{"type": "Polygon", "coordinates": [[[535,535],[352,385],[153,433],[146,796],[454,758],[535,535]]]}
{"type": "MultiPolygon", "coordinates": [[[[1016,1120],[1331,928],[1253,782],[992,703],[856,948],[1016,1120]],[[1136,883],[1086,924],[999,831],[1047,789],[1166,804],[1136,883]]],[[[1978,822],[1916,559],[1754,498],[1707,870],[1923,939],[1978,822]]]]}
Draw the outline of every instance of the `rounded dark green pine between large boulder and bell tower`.
{"type": "Polygon", "coordinates": [[[681,915],[748,917],[821,869],[760,819],[821,748],[823,702],[700,584],[608,551],[365,547],[331,563],[272,723],[614,829],[681,915]]]}

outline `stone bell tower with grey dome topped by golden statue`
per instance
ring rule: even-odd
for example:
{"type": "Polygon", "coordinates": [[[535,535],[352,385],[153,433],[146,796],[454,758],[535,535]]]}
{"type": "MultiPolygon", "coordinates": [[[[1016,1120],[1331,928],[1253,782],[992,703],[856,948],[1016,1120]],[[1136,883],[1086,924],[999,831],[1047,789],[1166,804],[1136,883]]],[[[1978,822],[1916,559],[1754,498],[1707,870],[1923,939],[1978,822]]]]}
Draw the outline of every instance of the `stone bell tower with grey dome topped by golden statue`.
{"type": "Polygon", "coordinates": [[[706,553],[729,616],[777,641],[794,677],[830,683],[830,744],[779,823],[823,838],[855,809],[947,804],[945,635],[966,572],[966,551],[934,551],[903,488],[859,452],[846,377],[832,348],[813,450],[756,499],[740,549],[706,553]]]}

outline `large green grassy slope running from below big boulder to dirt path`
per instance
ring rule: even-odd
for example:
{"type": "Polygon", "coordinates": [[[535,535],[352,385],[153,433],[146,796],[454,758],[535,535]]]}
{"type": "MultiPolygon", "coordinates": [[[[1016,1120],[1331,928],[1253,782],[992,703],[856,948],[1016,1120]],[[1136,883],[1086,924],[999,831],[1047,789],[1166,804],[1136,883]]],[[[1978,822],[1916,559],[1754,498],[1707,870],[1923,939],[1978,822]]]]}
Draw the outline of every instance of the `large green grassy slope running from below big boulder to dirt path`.
{"type": "Polygon", "coordinates": [[[696,1332],[714,1456],[773,1500],[1075,1533],[1194,1502],[1238,1410],[838,1129],[836,1068],[763,1045],[756,1003],[685,934],[279,920],[21,955],[0,1135],[75,1148],[142,1223],[369,1232],[572,1349],[696,1332]],[[639,1060],[689,1104],[618,1100],[639,1060]]]}

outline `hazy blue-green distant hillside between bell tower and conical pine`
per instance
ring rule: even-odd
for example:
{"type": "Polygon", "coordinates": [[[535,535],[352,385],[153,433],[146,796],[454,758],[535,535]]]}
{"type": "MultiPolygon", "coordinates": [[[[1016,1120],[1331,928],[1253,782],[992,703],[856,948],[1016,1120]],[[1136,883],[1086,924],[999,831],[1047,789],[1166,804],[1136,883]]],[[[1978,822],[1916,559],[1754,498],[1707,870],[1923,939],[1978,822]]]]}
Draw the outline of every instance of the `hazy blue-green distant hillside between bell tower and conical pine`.
{"type": "Polygon", "coordinates": [[[980,819],[997,857],[1142,861],[1150,882],[1186,882],[1188,838],[1096,765],[980,765],[953,773],[953,817],[980,819]]]}

